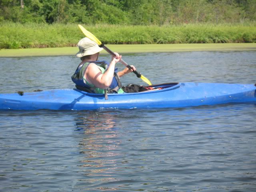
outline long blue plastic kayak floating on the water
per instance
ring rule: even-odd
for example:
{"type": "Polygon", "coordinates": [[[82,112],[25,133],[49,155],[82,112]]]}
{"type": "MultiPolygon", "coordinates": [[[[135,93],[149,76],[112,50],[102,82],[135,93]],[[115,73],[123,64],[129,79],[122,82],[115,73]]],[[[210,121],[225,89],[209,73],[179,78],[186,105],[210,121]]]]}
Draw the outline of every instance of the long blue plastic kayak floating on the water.
{"type": "Polygon", "coordinates": [[[0,94],[0,109],[93,110],[100,108],[173,108],[226,103],[256,103],[253,84],[166,83],[138,93],[93,94],[78,89],[0,94]]]}

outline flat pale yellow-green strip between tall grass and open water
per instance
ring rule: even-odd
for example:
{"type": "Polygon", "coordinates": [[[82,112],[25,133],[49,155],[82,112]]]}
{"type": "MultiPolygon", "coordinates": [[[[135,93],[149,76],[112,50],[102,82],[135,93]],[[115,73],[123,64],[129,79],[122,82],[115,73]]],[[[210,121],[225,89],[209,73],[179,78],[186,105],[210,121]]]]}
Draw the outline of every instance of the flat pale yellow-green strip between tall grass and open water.
{"type": "MultiPolygon", "coordinates": [[[[190,51],[248,51],[256,50],[256,43],[224,43],[224,44],[136,44],[136,45],[106,45],[114,52],[143,53],[143,52],[190,52],[190,51]]],[[[74,56],[77,47],[62,48],[28,48],[2,49],[0,57],[24,56],[74,56]]],[[[105,50],[101,52],[107,54],[105,50]]]]}

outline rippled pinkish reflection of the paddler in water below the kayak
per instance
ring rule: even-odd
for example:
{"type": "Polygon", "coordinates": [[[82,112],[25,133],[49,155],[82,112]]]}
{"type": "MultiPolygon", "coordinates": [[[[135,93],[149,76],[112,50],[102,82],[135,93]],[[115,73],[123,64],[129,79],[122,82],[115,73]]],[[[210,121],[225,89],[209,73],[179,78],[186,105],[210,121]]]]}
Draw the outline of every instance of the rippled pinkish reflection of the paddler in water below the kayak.
{"type": "Polygon", "coordinates": [[[122,143],[114,116],[110,112],[88,112],[76,119],[77,130],[84,134],[79,142],[81,172],[84,179],[111,181],[116,161],[120,155],[118,146],[122,143]]]}

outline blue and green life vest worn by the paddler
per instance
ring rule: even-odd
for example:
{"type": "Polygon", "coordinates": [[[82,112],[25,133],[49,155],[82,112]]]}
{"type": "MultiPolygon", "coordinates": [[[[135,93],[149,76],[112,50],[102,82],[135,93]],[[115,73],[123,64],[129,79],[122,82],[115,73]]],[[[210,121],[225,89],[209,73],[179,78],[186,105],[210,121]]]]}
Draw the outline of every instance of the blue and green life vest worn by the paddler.
{"type": "MultiPolygon", "coordinates": [[[[98,68],[104,73],[108,66],[110,65],[109,62],[106,61],[92,61],[92,62],[85,62],[84,64],[78,66],[76,72],[72,75],[71,79],[76,84],[76,88],[80,90],[84,90],[86,92],[104,94],[104,89],[96,88],[94,85],[88,83],[84,78],[84,73],[86,68],[90,63],[95,63],[98,68]]],[[[114,77],[110,86],[107,88],[108,93],[123,93],[124,91],[121,89],[122,84],[120,82],[120,78],[117,75],[117,68],[114,70],[114,77]]]]}

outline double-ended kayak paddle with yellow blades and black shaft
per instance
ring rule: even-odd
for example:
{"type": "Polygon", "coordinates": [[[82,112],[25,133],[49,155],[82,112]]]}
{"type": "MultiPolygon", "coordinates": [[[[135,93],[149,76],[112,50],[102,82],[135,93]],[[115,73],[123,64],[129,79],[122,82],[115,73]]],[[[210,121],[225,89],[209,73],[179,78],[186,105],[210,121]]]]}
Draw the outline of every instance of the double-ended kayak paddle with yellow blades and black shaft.
{"type": "MultiPolygon", "coordinates": [[[[88,37],[90,40],[96,42],[99,47],[103,48],[104,50],[106,50],[106,52],[108,52],[112,56],[116,57],[116,54],[114,52],[112,52],[109,48],[107,48],[102,42],[100,42],[100,40],[98,40],[91,32],[86,30],[82,25],[78,25],[78,26],[86,37],[88,37]]],[[[124,66],[126,66],[128,69],[130,69],[130,70],[132,69],[132,67],[130,65],[128,65],[124,60],[121,59],[120,62],[122,64],[124,64],[124,66]]],[[[146,77],[144,77],[141,73],[139,73],[137,71],[132,71],[132,72],[134,72],[138,78],[141,78],[148,85],[152,85],[150,80],[148,80],[146,77]]]]}

